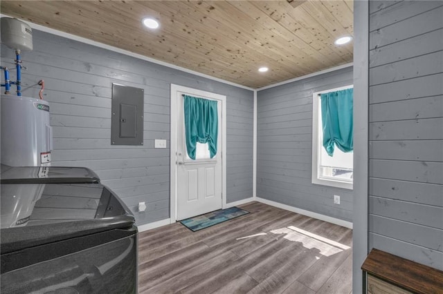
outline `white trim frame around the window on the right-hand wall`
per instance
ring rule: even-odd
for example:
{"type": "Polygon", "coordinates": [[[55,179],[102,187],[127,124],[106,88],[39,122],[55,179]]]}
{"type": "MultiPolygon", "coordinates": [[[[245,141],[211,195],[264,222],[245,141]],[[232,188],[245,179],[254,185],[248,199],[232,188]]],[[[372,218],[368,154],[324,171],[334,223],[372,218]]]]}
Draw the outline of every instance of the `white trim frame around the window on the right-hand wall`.
{"type": "MultiPolygon", "coordinates": [[[[323,147],[323,145],[320,142],[320,132],[318,129],[318,125],[321,126],[321,121],[319,121],[319,117],[321,117],[320,114],[320,99],[318,98],[319,94],[324,94],[327,92],[334,92],[338,90],[345,90],[354,88],[354,85],[347,85],[343,87],[338,88],[332,88],[327,90],[321,90],[314,92],[312,94],[312,168],[311,168],[311,183],[317,184],[317,185],[323,185],[323,186],[331,186],[335,188],[344,188],[348,190],[352,190],[354,187],[354,183],[340,181],[338,179],[320,179],[318,177],[318,173],[320,170],[320,166],[318,166],[318,159],[320,156],[320,148],[323,147]]],[[[352,158],[352,161],[354,161],[354,158],[352,158]]]]}

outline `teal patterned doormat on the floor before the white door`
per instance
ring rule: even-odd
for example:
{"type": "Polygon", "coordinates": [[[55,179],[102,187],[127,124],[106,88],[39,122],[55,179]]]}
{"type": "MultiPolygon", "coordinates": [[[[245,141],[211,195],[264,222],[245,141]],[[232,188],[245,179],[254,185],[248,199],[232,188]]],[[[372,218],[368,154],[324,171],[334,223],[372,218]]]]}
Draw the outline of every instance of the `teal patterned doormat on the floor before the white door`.
{"type": "Polygon", "coordinates": [[[229,219],[247,215],[249,212],[238,207],[231,207],[226,209],[215,210],[212,213],[206,213],[206,215],[199,215],[198,217],[190,217],[183,219],[181,224],[189,228],[192,232],[199,231],[203,228],[226,222],[229,219]]]}

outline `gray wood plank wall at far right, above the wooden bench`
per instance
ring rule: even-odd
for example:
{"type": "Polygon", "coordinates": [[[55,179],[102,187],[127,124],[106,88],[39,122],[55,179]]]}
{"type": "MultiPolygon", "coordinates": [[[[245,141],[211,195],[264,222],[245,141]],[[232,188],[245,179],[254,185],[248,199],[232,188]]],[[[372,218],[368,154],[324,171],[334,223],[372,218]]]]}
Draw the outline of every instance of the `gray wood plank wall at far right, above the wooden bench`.
{"type": "Polygon", "coordinates": [[[442,270],[443,2],[370,10],[370,248],[442,270]]]}

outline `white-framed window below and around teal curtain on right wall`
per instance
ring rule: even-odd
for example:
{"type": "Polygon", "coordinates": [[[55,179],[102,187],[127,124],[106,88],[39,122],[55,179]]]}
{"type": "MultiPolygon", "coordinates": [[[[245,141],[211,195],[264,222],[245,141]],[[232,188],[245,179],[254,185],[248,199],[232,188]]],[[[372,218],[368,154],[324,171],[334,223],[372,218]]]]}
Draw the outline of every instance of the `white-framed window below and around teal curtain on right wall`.
{"type": "MultiPolygon", "coordinates": [[[[312,183],[352,189],[354,153],[334,148],[329,156],[323,147],[323,128],[320,94],[345,90],[353,86],[314,92],[312,103],[312,183]]],[[[335,146],[336,147],[336,146],[335,146]]]]}

